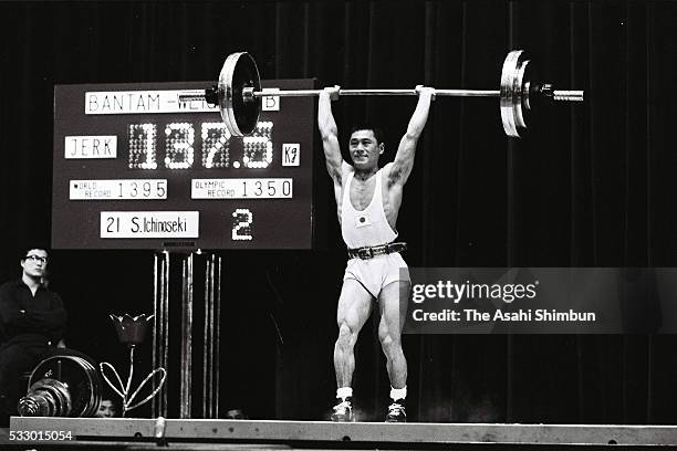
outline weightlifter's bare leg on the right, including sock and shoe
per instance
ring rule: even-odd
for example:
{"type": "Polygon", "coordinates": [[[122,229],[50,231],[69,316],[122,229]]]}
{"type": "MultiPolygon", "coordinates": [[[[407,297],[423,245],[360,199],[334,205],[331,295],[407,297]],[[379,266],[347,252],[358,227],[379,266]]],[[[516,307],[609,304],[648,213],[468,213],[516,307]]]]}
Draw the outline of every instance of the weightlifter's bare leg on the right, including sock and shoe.
{"type": "Polygon", "coordinates": [[[406,421],[407,359],[402,349],[402,327],[407,312],[409,287],[410,283],[406,281],[389,283],[381,291],[378,298],[378,339],[387,360],[393,400],[386,421],[406,421]]]}

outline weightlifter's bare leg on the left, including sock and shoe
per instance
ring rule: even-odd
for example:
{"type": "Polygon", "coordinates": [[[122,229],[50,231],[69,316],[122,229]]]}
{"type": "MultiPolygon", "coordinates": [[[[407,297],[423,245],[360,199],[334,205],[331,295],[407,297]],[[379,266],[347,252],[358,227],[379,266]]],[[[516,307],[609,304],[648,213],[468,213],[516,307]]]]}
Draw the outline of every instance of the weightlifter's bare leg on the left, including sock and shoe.
{"type": "Polygon", "coordinates": [[[372,295],[360,282],[354,279],[343,281],[338,307],[336,311],[336,324],[338,326],[338,338],[334,345],[334,370],[336,371],[336,398],[332,420],[352,421],[353,412],[351,399],[353,389],[353,373],[355,371],[355,343],[360,331],[366,323],[372,312],[372,295]]]}

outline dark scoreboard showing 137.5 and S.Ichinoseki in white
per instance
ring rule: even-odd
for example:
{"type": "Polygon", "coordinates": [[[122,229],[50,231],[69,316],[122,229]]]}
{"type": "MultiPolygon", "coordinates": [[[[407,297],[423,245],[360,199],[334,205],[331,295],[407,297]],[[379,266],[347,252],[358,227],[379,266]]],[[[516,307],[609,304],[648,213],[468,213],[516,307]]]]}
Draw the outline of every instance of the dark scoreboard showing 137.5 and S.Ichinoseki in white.
{"type": "Polygon", "coordinates": [[[315,99],[275,90],[251,136],[183,101],[209,82],[56,85],[53,249],[310,249],[315,99]]]}

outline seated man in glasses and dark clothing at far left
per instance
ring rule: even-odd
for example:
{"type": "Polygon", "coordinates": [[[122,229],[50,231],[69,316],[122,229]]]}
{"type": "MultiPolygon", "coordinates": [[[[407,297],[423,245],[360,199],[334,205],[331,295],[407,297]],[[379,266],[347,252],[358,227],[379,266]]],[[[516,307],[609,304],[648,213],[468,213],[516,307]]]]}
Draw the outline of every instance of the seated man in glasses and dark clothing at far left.
{"type": "Polygon", "coordinates": [[[48,262],[44,249],[29,249],[21,258],[21,279],[0,285],[0,427],[15,415],[24,395],[20,376],[63,343],[66,312],[46,287],[48,262]]]}

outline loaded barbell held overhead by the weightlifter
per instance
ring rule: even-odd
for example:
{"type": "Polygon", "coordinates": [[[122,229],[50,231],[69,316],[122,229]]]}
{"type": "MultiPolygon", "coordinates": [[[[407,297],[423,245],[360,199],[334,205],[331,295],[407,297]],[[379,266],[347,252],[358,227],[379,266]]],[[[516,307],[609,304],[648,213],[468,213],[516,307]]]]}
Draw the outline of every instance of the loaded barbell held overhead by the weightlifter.
{"type": "MultiPolygon", "coordinates": [[[[527,129],[529,115],[543,101],[582,102],[583,91],[558,91],[551,83],[534,81],[533,65],[523,50],[508,53],[501,71],[500,88],[435,90],[434,96],[499,97],[501,122],[506,134],[520,137],[527,129]]],[[[261,98],[267,96],[317,96],[322,90],[262,91],[259,69],[247,52],[231,53],[223,63],[216,86],[204,95],[180,95],[181,102],[205,99],[219,107],[226,128],[233,136],[250,135],[261,113],[261,98]]],[[[338,90],[340,96],[356,95],[418,95],[416,90],[338,90]]]]}

